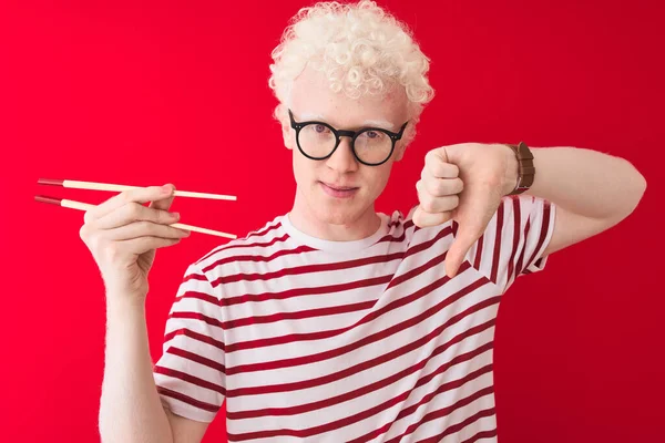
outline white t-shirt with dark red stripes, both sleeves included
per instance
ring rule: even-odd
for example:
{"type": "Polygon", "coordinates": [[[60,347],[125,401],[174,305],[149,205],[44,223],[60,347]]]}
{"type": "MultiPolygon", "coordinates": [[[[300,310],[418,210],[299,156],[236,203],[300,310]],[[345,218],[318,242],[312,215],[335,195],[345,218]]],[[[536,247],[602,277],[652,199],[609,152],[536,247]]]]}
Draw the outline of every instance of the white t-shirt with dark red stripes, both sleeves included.
{"type": "Polygon", "coordinates": [[[504,197],[449,279],[457,223],[328,241],[288,215],[185,272],[154,367],[173,413],[232,442],[495,441],[492,348],[501,295],[543,269],[555,206],[504,197]]]}

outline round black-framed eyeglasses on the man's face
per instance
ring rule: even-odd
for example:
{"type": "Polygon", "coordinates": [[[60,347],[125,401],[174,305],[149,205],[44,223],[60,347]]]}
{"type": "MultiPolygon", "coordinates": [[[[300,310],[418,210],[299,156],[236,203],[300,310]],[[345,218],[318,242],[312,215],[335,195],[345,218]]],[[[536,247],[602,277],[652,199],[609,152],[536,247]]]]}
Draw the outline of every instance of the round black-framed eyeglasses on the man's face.
{"type": "Polygon", "coordinates": [[[364,127],[360,131],[336,130],[324,122],[301,122],[294,120],[288,110],[291,127],[296,130],[296,144],[304,156],[310,159],[326,159],[339,146],[341,137],[351,137],[351,151],[356,159],[367,166],[379,166],[388,161],[395,151],[395,144],[402,137],[406,122],[399,132],[381,127],[364,127]]]}

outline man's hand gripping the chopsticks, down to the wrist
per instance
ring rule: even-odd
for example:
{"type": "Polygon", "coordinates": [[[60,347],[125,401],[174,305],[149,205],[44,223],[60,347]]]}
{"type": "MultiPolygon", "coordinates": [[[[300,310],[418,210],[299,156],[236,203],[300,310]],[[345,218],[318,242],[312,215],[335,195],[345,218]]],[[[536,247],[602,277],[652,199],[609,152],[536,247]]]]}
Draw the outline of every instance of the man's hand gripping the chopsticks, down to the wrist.
{"type": "Polygon", "coordinates": [[[173,185],[125,190],[85,212],[79,235],[94,257],[109,297],[147,295],[155,249],[177,244],[190,231],[170,227],[173,185]],[[150,207],[142,205],[151,202],[150,207]]]}

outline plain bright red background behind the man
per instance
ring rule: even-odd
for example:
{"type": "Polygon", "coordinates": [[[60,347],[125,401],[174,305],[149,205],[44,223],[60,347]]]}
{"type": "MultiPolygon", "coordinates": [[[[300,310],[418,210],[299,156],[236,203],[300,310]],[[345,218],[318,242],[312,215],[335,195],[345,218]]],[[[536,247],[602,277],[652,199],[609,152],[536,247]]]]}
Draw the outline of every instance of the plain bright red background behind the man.
{"type": "MultiPolygon", "coordinates": [[[[648,189],[611,230],[556,253],[503,299],[495,382],[502,442],[638,442],[665,420],[661,286],[663,2],[381,1],[432,59],[437,97],[377,208],[407,210],[423,156],[460,142],[589,147],[648,189]]],[[[290,208],[290,152],[272,120],[270,50],[305,6],[2,2],[0,440],[94,442],[103,284],[81,212],[38,177],[238,195],[176,199],[183,223],[244,235],[290,208]]],[[[186,265],[217,238],[162,249],[147,300],[153,359],[186,265]]],[[[205,442],[222,442],[223,413],[205,442]]]]}

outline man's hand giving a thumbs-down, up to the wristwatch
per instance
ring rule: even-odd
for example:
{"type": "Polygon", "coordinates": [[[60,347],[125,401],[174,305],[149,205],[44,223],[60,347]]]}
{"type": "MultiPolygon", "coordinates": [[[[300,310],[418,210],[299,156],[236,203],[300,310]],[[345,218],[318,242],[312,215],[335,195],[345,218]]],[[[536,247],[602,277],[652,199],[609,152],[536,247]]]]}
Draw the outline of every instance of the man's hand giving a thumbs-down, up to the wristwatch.
{"type": "Polygon", "coordinates": [[[459,224],[446,256],[449,277],[454,277],[516,179],[518,161],[507,145],[461,143],[427,153],[416,184],[420,205],[413,213],[413,223],[419,227],[450,219],[459,224]]]}

